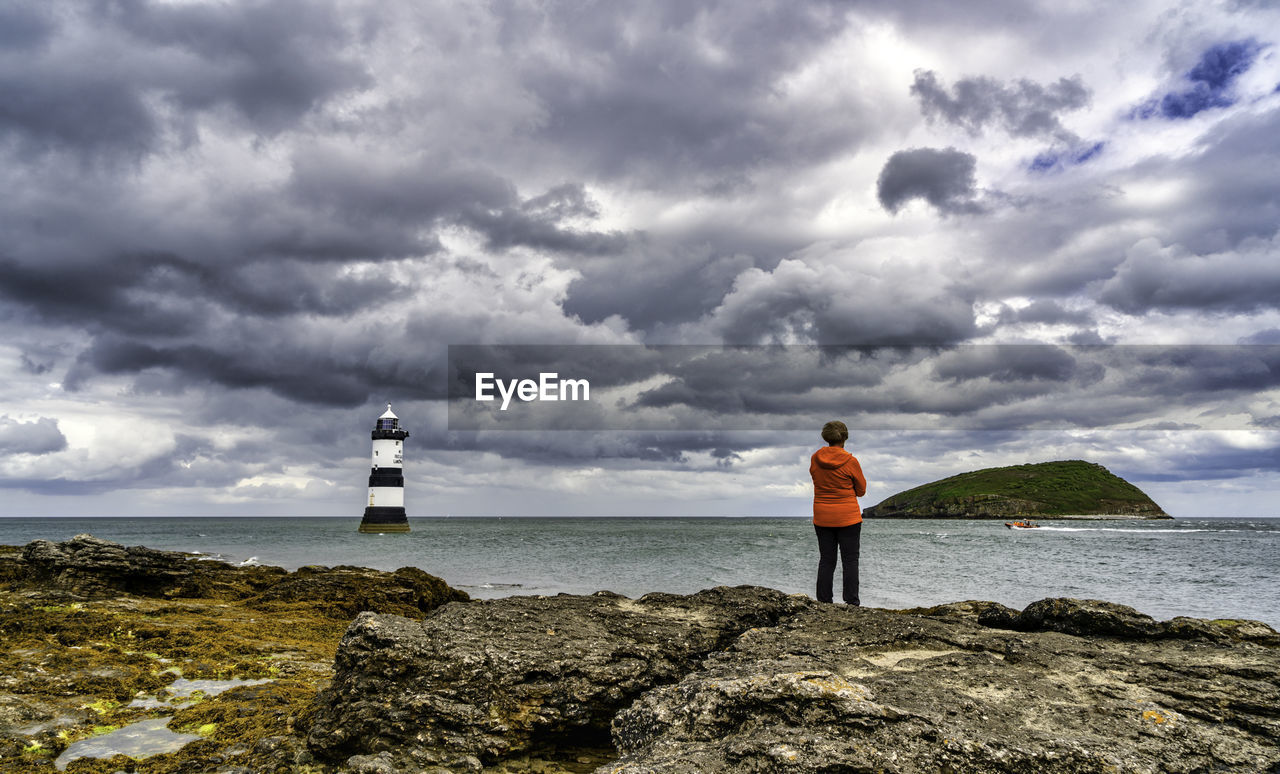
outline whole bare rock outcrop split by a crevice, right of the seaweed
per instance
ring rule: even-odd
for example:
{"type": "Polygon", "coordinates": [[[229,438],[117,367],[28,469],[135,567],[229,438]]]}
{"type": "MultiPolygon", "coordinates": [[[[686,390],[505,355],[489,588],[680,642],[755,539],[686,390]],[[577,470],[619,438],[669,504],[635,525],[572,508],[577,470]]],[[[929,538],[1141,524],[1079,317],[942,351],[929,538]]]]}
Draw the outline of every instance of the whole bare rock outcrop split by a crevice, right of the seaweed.
{"type": "Polygon", "coordinates": [[[1280,771],[1280,644],[1052,599],[893,612],[762,588],[361,615],[308,745],[347,770],[598,748],[598,774],[1280,771]]]}

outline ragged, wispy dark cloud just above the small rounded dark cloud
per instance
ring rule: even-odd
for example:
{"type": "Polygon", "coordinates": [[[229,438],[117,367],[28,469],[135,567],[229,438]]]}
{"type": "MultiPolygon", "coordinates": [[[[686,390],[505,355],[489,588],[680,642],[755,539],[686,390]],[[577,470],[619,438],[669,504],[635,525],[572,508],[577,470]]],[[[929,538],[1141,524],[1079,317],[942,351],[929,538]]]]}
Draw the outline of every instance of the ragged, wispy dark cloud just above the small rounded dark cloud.
{"type": "Polygon", "coordinates": [[[979,134],[991,125],[1014,137],[1050,137],[1075,142],[1057,114],[1089,104],[1089,90],[1079,75],[1043,86],[1019,79],[1011,84],[995,78],[961,78],[950,90],[933,70],[916,70],[911,93],[929,120],[941,120],[979,134]]]}

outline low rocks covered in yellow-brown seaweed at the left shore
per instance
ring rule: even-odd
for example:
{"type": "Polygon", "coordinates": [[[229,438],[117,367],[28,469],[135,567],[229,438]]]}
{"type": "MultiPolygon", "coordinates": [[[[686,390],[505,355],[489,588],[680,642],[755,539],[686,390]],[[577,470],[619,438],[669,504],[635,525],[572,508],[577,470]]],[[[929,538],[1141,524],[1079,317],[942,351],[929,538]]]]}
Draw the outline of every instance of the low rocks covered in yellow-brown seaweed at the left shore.
{"type": "Polygon", "coordinates": [[[65,770],[306,771],[298,729],[348,620],[361,609],[424,617],[466,599],[412,568],[289,573],[86,535],[0,546],[0,770],[52,773],[77,742],[164,720],[196,741],[138,761],[64,759],[65,770]],[[232,679],[270,682],[215,695],[232,679]]]}

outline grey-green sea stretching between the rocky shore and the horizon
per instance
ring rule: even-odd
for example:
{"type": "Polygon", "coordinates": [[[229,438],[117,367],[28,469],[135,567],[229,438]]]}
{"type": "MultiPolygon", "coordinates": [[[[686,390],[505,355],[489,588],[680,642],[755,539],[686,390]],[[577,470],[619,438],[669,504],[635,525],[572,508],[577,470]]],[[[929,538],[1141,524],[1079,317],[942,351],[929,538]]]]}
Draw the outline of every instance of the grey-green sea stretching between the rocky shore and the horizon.
{"type": "MultiPolygon", "coordinates": [[[[639,597],[756,585],[809,594],[805,518],[410,518],[361,535],[358,518],[0,518],[0,544],[90,533],[232,564],[417,567],[474,597],[639,597]]],[[[867,521],[861,603],[916,608],[1050,596],[1132,605],[1157,619],[1251,618],[1280,629],[1280,519],[867,521]]],[[[838,599],[840,572],[836,574],[838,599]]]]}

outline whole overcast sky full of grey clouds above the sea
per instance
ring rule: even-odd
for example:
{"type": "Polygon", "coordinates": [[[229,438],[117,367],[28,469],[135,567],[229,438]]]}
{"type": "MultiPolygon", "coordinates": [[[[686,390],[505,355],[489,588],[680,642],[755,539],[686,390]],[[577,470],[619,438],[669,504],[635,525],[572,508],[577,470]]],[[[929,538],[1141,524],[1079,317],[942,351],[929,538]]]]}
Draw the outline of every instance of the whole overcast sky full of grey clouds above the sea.
{"type": "Polygon", "coordinates": [[[804,516],[823,413],[1280,516],[1277,173],[1266,0],[0,0],[0,516],[358,518],[387,402],[411,516],[804,516]],[[474,431],[458,344],[901,359],[474,431]]]}

